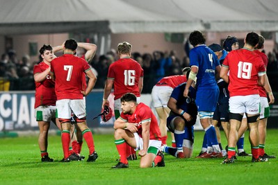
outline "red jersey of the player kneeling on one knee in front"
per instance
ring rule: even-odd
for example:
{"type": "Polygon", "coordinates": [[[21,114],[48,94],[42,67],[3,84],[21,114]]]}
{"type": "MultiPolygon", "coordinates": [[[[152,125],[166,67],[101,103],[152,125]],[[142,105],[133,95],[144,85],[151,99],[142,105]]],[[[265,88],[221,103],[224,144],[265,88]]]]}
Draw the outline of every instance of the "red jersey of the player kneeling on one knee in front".
{"type": "Polygon", "coordinates": [[[132,115],[122,112],[120,118],[128,123],[138,123],[136,127],[140,137],[142,137],[142,124],[151,121],[149,125],[149,139],[161,141],[161,131],[159,130],[156,116],[154,116],[152,109],[144,103],[139,103],[132,115]]]}

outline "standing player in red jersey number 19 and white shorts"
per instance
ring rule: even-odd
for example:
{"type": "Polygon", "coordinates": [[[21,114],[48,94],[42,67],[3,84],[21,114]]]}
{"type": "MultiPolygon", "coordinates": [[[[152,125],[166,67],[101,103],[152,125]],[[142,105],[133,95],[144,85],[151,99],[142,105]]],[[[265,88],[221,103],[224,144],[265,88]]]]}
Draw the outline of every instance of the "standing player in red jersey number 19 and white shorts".
{"type": "Polygon", "coordinates": [[[244,113],[247,114],[247,123],[250,128],[252,162],[265,161],[259,157],[260,96],[258,85],[265,85],[265,65],[261,57],[253,52],[258,43],[259,35],[254,32],[248,33],[243,49],[231,51],[222,64],[220,77],[229,83],[230,93],[228,152],[223,164],[234,163],[238,129],[244,113]]]}

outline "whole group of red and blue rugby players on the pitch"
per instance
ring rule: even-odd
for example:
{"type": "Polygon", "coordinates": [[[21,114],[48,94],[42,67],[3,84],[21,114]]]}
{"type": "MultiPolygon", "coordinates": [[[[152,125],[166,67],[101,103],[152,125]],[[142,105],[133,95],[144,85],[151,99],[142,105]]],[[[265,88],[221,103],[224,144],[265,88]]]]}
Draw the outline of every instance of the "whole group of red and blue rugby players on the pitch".
{"type": "MultiPolygon", "coordinates": [[[[152,109],[140,103],[144,71],[131,58],[131,44],[118,44],[119,60],[108,69],[102,103],[102,107],[110,106],[108,96],[114,87],[114,137],[120,161],[112,168],[128,168],[128,160],[137,159],[136,150],[140,168],[165,166],[163,153],[177,158],[192,157],[193,125],[197,118],[205,131],[198,158],[226,157],[223,164],[234,163],[237,144],[238,156],[246,156],[243,142],[247,127],[252,161],[274,157],[264,151],[269,103],[274,103],[274,96],[265,73],[268,60],[261,52],[263,37],[248,33],[243,49],[238,49],[236,37],[229,36],[222,49],[219,44],[206,46],[204,35],[195,30],[190,33],[189,42],[193,45],[190,67],[183,69],[181,76],[162,78],[152,89],[159,126],[152,109]],[[227,151],[221,145],[219,125],[227,137],[227,151]],[[167,129],[174,135],[172,147],[166,143],[167,129]]],[[[74,39],[67,39],[61,46],[44,45],[40,49],[43,61],[33,71],[42,161],[54,161],[47,152],[50,121],[62,132],[63,162],[85,158],[80,155],[83,139],[90,152],[87,161],[98,157],[85,112],[85,96],[97,80],[88,64],[96,49],[95,44],[74,39]],[[75,55],[77,47],[86,51],[82,58],[75,55]],[[60,50],[63,55],[56,58],[54,52],[60,50]],[[72,122],[76,123],[76,132],[72,122]]]]}

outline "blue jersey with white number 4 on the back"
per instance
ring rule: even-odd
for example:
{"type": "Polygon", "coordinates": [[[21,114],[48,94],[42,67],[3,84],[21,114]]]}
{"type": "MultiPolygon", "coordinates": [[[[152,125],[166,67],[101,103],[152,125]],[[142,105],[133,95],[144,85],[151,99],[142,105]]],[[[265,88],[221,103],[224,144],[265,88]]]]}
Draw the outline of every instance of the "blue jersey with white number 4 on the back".
{"type": "Polygon", "coordinates": [[[202,44],[190,50],[190,66],[197,66],[197,89],[218,88],[215,80],[215,67],[220,65],[217,56],[202,44]]]}

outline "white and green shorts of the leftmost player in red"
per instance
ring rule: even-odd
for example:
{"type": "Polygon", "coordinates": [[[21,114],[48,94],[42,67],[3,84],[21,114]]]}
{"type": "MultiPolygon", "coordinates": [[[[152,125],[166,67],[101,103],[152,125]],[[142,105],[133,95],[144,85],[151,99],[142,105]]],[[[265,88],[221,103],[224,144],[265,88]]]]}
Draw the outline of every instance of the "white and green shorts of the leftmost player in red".
{"type": "Polygon", "coordinates": [[[56,118],[56,106],[45,105],[35,108],[35,120],[50,122],[56,118]]]}

